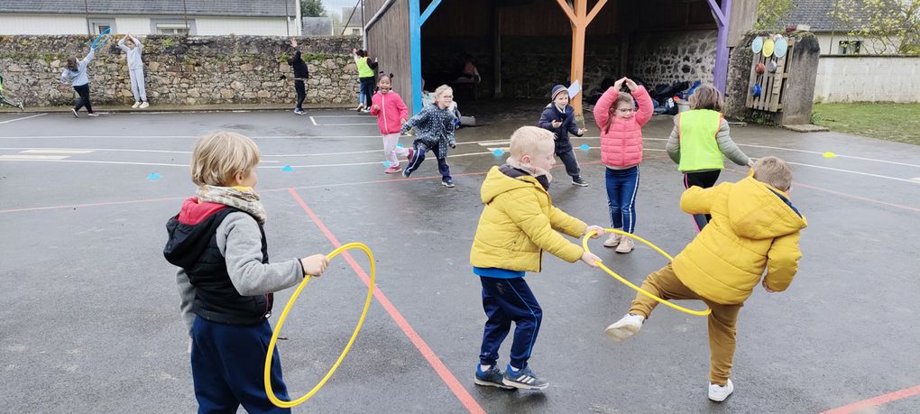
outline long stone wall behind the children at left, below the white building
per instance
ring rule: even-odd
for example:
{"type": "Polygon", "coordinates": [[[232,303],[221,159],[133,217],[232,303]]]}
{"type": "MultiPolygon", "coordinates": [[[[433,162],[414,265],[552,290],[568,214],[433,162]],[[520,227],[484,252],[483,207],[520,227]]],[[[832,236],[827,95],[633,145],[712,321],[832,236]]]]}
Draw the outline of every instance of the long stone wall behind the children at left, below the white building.
{"type": "MultiPolygon", "coordinates": [[[[0,71],[7,94],[29,107],[71,105],[75,93],[60,83],[68,56],[82,59],[86,36],[0,36],[0,71]]],[[[287,38],[259,36],[148,36],[144,44],[147,97],[156,104],[290,103],[293,72],[287,38]]],[[[300,40],[311,78],[307,103],[355,101],[357,70],[351,48],[361,38],[300,40]]],[[[124,53],[115,40],[89,64],[91,97],[98,104],[133,101],[124,53]]]]}

